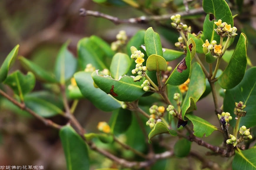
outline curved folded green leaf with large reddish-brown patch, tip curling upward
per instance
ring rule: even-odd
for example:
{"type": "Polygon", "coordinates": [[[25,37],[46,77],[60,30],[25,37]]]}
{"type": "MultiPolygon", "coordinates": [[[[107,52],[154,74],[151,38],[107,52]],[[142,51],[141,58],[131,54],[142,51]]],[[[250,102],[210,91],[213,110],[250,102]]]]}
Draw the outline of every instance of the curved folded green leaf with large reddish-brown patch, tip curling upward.
{"type": "Polygon", "coordinates": [[[189,50],[189,45],[192,44],[192,50],[195,48],[195,42],[192,38],[187,41],[187,55],[186,57],[175,67],[172,74],[169,76],[165,84],[170,84],[173,86],[180,85],[184,83],[190,74],[191,67],[191,52],[189,50]]]}

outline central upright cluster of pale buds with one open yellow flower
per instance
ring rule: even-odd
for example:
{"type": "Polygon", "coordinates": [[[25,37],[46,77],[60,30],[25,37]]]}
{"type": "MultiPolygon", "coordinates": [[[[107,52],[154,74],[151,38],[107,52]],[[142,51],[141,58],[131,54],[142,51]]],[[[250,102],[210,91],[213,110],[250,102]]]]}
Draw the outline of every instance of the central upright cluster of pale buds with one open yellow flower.
{"type": "Polygon", "coordinates": [[[147,67],[143,66],[144,59],[144,53],[140,50],[137,50],[136,47],[132,46],[131,48],[131,58],[135,60],[136,66],[135,69],[132,70],[132,74],[138,74],[133,81],[140,81],[145,76],[145,71],[147,71],[147,67]]]}

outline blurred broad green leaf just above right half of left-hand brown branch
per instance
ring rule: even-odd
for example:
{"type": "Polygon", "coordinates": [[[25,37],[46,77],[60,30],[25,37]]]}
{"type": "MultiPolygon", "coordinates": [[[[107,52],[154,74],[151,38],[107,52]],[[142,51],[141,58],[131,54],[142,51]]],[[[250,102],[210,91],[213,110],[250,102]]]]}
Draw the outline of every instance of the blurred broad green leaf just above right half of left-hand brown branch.
{"type": "Polygon", "coordinates": [[[54,94],[46,91],[29,93],[24,96],[28,108],[43,117],[51,117],[63,113],[62,101],[54,94]]]}

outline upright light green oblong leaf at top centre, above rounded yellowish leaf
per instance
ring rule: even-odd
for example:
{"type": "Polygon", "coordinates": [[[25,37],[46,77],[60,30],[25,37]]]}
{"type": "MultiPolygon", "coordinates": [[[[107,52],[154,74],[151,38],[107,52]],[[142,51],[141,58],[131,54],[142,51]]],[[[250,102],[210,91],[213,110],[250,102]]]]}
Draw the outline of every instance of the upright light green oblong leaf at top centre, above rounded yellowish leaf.
{"type": "Polygon", "coordinates": [[[145,33],[145,46],[147,56],[152,54],[163,56],[163,49],[158,33],[154,32],[152,27],[149,27],[145,33]]]}

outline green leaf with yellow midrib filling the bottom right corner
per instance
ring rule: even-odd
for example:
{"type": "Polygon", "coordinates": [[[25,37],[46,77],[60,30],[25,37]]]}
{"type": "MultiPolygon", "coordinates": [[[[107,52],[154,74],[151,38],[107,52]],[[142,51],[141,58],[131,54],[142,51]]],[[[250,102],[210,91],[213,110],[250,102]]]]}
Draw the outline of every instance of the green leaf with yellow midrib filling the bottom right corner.
{"type": "Polygon", "coordinates": [[[232,161],[232,169],[256,169],[256,148],[235,150],[235,157],[232,161]]]}

